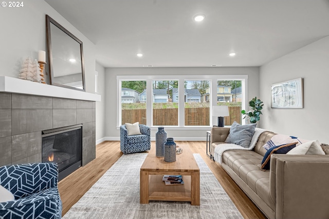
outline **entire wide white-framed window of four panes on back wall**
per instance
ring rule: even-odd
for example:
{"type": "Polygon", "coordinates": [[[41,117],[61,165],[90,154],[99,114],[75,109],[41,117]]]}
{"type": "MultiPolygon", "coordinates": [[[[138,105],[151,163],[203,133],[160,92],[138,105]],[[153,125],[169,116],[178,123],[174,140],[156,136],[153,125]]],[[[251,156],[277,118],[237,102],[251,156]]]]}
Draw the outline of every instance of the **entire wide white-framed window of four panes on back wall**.
{"type": "MultiPolygon", "coordinates": [[[[118,127],[124,123],[209,128],[217,125],[211,107],[228,105],[233,121],[244,124],[241,110],[247,109],[247,75],[118,75],[118,127]],[[229,91],[229,92],[226,92],[229,91]],[[130,95],[124,95],[130,92],[130,95]]],[[[201,128],[203,129],[203,128],[201,128]]]]}

